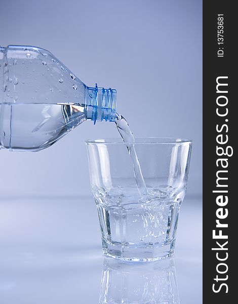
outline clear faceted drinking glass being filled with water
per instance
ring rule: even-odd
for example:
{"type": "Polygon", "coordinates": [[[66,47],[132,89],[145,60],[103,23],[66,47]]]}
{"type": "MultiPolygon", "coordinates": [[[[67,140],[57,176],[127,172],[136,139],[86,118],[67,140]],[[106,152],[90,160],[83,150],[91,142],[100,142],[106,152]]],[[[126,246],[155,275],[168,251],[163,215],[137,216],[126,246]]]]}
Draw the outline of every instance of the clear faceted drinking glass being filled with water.
{"type": "Polygon", "coordinates": [[[191,145],[188,139],[156,137],[127,144],[120,138],[86,141],[105,255],[126,261],[173,256],[191,145]],[[135,158],[146,192],[136,182],[135,158]]]}

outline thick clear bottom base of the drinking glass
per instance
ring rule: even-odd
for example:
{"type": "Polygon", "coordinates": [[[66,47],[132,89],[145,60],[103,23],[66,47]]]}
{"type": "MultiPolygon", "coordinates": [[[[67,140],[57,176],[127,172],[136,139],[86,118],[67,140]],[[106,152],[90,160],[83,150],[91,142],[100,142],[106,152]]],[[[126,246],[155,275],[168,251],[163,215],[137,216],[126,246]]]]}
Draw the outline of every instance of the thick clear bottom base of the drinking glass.
{"type": "Polygon", "coordinates": [[[175,240],[166,245],[123,246],[122,244],[109,244],[102,239],[103,253],[109,257],[128,262],[151,262],[174,255],[175,240]]]}

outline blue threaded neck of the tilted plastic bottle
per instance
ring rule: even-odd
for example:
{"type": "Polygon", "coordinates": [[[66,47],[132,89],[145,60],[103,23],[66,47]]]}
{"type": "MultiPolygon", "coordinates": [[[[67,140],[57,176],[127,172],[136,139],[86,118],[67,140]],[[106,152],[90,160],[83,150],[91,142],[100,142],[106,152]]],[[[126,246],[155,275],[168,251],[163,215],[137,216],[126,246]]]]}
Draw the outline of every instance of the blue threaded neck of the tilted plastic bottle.
{"type": "Polygon", "coordinates": [[[98,88],[87,88],[87,120],[114,122],[116,117],[116,90],[98,88]]]}

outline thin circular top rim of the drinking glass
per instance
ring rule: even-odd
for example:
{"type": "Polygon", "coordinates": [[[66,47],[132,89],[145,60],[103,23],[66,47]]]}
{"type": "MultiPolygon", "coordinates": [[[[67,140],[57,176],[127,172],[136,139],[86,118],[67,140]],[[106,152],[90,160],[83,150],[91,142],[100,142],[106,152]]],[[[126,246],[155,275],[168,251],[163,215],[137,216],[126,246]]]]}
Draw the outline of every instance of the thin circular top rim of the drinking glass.
{"type": "MultiPolygon", "coordinates": [[[[125,144],[121,137],[114,138],[99,138],[99,139],[87,139],[86,144],[125,144]]],[[[181,144],[192,143],[188,138],[176,138],[176,137],[135,137],[135,142],[129,141],[127,144],[181,144]]]]}

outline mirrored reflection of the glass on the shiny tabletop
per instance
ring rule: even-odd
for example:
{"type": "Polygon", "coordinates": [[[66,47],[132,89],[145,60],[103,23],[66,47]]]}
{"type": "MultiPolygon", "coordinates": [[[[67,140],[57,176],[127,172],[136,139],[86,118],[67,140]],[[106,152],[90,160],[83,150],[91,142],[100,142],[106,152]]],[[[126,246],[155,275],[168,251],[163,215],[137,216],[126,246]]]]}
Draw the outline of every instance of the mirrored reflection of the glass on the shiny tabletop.
{"type": "Polygon", "coordinates": [[[173,259],[129,264],[104,258],[99,304],[179,304],[173,259]]]}

